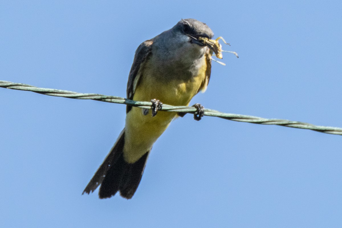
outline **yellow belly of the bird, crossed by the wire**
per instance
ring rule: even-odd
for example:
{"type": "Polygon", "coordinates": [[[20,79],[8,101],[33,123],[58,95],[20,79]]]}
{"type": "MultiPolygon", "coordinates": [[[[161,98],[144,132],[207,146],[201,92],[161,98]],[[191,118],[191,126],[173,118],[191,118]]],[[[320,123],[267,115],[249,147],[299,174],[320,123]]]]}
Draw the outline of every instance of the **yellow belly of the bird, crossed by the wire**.
{"type": "MultiPolygon", "coordinates": [[[[159,99],[163,104],[188,105],[206,79],[206,66],[199,70],[198,76],[187,81],[157,81],[145,73],[135,89],[133,100],[149,101],[159,99]]],[[[166,130],[176,112],[159,111],[155,117],[151,111],[143,115],[141,108],[133,107],[126,116],[124,158],[134,163],[152,148],[158,137],[166,130]]]]}

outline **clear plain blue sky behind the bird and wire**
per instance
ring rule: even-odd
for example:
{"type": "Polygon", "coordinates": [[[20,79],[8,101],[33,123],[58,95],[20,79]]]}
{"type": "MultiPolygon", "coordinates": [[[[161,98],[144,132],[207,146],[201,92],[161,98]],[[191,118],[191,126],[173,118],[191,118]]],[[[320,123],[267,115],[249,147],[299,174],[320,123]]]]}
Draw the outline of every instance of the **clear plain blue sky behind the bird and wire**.
{"type": "MultiPolygon", "coordinates": [[[[126,96],[143,41],[196,18],[240,58],[192,104],[342,127],[341,1],[1,1],[0,80],[126,96]]],[[[81,195],[124,105],[0,88],[0,227],[342,227],[342,136],[186,115],[131,200],[81,195]]]]}

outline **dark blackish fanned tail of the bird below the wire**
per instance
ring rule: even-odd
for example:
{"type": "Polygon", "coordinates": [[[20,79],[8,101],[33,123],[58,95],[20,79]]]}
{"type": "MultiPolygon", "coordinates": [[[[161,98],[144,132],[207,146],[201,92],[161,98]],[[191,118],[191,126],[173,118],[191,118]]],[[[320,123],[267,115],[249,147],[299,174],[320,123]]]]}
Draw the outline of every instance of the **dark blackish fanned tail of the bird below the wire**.
{"type": "Polygon", "coordinates": [[[123,158],[123,147],[124,129],[82,195],[93,192],[101,185],[98,192],[100,199],[110,198],[118,191],[123,198],[133,197],[143,175],[149,151],[136,162],[128,163],[123,158]]]}

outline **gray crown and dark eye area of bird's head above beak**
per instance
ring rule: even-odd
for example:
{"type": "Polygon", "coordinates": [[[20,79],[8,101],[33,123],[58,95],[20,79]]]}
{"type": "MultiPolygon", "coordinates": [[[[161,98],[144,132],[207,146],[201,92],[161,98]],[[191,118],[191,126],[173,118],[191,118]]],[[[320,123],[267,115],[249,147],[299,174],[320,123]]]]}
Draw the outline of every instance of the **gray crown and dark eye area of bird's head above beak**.
{"type": "Polygon", "coordinates": [[[198,38],[198,37],[206,37],[206,38],[213,38],[214,33],[213,31],[203,22],[197,21],[196,19],[182,19],[179,21],[174,28],[179,29],[185,35],[198,38]]]}

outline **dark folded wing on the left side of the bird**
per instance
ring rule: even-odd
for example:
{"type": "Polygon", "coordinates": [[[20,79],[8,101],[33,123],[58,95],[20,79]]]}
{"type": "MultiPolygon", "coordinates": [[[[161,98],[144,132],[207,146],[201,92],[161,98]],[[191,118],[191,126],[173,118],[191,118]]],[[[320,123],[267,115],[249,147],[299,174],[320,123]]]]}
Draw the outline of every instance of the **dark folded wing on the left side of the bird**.
{"type": "MultiPolygon", "coordinates": [[[[127,98],[133,99],[134,96],[134,83],[139,83],[140,72],[139,70],[144,67],[147,57],[151,54],[152,40],[146,40],[135,51],[134,61],[129,72],[128,82],[127,82],[127,98]]],[[[126,107],[126,112],[129,112],[132,106],[126,107]]]]}

